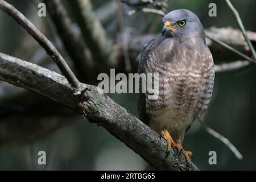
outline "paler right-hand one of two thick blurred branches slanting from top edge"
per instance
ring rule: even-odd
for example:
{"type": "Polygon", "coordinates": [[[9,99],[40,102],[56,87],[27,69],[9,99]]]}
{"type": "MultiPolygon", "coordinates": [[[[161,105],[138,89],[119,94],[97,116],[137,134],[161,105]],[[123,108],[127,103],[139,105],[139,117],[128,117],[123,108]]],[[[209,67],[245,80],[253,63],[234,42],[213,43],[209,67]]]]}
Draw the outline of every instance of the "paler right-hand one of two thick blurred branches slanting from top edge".
{"type": "Polygon", "coordinates": [[[113,44],[106,37],[104,28],[94,14],[92,3],[89,0],[74,0],[69,3],[98,68],[102,68],[102,65],[113,65],[115,63],[113,44]]]}

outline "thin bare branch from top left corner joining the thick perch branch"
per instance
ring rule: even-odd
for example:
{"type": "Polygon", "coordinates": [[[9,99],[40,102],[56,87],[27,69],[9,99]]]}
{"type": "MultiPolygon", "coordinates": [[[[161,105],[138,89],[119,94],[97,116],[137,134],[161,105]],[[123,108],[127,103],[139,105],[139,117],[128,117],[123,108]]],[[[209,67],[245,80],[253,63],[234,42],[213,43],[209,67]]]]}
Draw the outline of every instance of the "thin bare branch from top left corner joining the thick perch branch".
{"type": "Polygon", "coordinates": [[[6,1],[0,0],[0,9],[13,17],[14,20],[16,20],[16,22],[18,22],[46,50],[63,75],[67,77],[69,84],[71,84],[74,89],[78,89],[80,87],[79,80],[77,80],[75,74],[72,72],[71,68],[69,68],[64,58],[60,55],[55,46],[49,42],[46,36],[44,36],[44,34],[40,32],[30,20],[6,1]]]}

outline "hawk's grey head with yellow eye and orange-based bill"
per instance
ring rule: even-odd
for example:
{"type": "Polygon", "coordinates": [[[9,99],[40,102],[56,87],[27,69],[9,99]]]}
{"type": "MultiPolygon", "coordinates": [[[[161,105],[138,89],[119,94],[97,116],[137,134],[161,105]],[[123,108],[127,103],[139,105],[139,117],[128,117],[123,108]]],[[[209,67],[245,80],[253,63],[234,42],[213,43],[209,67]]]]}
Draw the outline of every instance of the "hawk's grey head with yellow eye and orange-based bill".
{"type": "Polygon", "coordinates": [[[204,27],[195,13],[186,9],[171,11],[163,17],[163,36],[200,36],[205,40],[204,27]]]}

